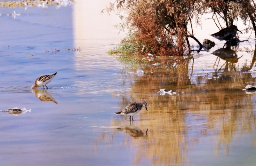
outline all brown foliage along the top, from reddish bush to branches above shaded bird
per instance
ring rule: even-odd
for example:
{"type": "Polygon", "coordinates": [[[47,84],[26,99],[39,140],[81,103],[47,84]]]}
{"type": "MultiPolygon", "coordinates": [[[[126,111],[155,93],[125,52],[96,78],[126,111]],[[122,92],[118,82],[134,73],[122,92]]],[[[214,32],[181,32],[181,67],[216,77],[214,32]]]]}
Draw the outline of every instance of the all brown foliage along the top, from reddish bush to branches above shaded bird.
{"type": "MultiPolygon", "coordinates": [[[[158,55],[183,55],[190,51],[188,37],[196,40],[187,29],[191,19],[200,22],[200,16],[212,13],[216,26],[232,26],[234,20],[242,19],[244,24],[250,20],[256,36],[256,5],[253,0],[116,0],[106,9],[115,11],[124,20],[120,28],[127,28],[138,43],[137,52],[146,51],[158,55]],[[123,13],[124,16],[122,15],[123,13]]],[[[219,27],[218,26],[218,27],[219,27]]],[[[127,40],[127,39],[126,39],[127,40]]],[[[124,41],[123,41],[124,42],[124,41]]]]}

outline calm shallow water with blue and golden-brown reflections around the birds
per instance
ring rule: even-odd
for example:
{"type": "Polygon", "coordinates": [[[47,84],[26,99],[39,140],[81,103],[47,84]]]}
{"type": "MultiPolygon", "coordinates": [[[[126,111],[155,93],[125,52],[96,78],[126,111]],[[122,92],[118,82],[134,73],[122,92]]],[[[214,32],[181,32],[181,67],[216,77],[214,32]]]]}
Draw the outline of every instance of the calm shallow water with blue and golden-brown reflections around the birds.
{"type": "Polygon", "coordinates": [[[256,93],[242,90],[255,78],[239,72],[253,61],[255,38],[218,58],[224,43],[206,35],[218,30],[205,21],[195,32],[215,41],[209,52],[120,62],[106,53],[125,36],[113,28],[118,17],[100,14],[108,2],[0,8],[0,110],[31,109],[0,113],[1,165],[255,165],[256,93]],[[30,89],[55,72],[48,90],[30,89]],[[148,112],[133,122],[115,114],[143,100],[148,112]]]}

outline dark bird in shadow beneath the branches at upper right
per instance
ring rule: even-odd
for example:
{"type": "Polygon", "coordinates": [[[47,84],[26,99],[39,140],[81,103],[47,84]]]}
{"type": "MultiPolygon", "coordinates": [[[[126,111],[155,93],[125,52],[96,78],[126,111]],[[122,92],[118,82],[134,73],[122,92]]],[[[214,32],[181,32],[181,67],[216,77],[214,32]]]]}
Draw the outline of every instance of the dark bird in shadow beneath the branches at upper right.
{"type": "Polygon", "coordinates": [[[219,32],[212,34],[211,36],[213,36],[219,40],[230,40],[236,36],[236,31],[241,32],[240,30],[237,29],[237,27],[235,25],[232,25],[227,28],[221,29],[219,32]]]}

